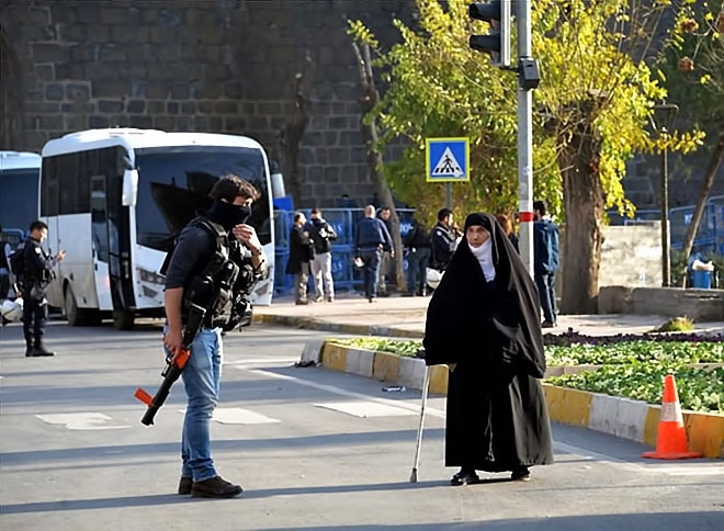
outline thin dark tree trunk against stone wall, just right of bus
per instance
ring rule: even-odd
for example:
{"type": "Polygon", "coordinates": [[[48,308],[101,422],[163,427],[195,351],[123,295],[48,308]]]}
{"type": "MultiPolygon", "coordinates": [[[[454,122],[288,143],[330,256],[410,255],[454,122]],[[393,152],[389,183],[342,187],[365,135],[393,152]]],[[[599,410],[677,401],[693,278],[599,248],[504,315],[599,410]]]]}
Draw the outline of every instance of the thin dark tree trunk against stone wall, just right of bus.
{"type": "MultiPolygon", "coordinates": [[[[299,174],[299,144],[309,122],[307,100],[302,89],[303,76],[294,77],[294,115],[281,132],[282,171],[286,176],[286,187],[294,200],[294,207],[302,204],[302,178],[299,174]]],[[[271,191],[270,191],[271,192],[271,191]]]]}

